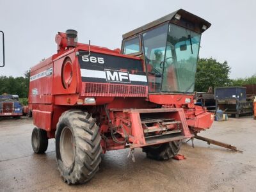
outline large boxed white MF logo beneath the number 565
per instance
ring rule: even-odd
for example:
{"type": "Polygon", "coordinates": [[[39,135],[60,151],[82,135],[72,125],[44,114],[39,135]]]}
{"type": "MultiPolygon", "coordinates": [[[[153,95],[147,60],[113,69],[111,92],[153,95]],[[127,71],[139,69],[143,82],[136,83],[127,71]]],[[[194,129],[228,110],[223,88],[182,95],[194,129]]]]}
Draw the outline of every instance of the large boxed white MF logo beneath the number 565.
{"type": "Polygon", "coordinates": [[[131,83],[129,72],[105,69],[107,81],[131,83]]]}

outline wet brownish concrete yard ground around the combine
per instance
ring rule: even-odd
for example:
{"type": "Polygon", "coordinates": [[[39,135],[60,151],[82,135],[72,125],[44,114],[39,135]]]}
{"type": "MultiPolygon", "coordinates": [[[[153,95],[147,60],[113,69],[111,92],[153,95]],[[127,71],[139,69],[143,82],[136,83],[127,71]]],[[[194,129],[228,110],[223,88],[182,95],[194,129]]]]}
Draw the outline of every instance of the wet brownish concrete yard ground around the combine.
{"type": "Polygon", "coordinates": [[[195,140],[184,143],[186,160],[154,161],[138,148],[107,152],[100,171],[84,185],[68,186],[56,167],[54,140],[47,152],[33,154],[31,119],[0,120],[0,191],[256,191],[256,120],[214,122],[200,135],[225,141],[243,154],[195,140]]]}

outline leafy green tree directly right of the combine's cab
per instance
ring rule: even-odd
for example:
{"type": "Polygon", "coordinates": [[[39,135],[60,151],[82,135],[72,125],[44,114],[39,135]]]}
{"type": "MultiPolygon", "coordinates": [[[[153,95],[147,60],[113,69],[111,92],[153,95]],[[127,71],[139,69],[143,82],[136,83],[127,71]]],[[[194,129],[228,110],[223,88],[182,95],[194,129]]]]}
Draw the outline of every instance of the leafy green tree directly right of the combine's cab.
{"type": "Polygon", "coordinates": [[[207,92],[209,86],[228,86],[230,69],[227,61],[220,63],[213,58],[200,58],[196,68],[196,92],[207,92]]]}

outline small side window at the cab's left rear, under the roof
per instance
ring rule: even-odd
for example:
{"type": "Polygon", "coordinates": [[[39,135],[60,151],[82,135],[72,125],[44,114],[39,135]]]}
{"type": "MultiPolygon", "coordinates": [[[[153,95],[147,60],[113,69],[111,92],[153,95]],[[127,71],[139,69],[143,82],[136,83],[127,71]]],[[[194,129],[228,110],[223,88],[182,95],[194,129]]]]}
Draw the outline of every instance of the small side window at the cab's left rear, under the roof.
{"type": "Polygon", "coordinates": [[[137,36],[124,42],[124,54],[140,54],[140,38],[137,36]]]}

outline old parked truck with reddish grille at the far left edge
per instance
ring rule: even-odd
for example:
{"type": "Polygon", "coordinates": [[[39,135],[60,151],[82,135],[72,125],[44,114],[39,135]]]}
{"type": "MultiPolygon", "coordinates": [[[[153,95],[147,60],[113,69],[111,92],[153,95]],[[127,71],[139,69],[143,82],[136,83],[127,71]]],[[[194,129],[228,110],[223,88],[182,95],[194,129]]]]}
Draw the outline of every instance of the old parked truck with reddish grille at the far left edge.
{"type": "Polygon", "coordinates": [[[3,116],[12,116],[13,118],[22,116],[19,95],[0,95],[0,118],[3,116]]]}

